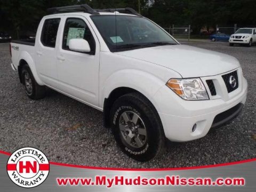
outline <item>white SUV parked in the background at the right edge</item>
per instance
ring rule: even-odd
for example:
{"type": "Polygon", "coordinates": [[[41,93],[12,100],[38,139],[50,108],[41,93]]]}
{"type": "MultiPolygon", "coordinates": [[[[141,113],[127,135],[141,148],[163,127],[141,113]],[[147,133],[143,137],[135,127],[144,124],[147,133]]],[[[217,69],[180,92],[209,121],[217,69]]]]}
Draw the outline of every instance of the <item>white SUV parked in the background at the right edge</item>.
{"type": "Polygon", "coordinates": [[[250,47],[253,43],[256,43],[256,28],[240,28],[229,38],[230,46],[243,44],[250,47]]]}

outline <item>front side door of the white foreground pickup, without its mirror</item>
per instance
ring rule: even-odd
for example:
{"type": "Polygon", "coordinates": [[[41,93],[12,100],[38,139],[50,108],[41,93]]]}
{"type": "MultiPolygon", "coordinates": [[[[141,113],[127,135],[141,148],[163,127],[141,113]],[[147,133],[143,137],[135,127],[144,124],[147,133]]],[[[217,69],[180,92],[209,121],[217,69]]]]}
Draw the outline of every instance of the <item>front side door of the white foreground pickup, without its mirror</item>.
{"type": "Polygon", "coordinates": [[[93,30],[83,17],[67,16],[57,53],[60,91],[91,106],[99,106],[100,46],[93,30]],[[73,38],[84,38],[91,52],[71,51],[68,43],[73,38]]]}

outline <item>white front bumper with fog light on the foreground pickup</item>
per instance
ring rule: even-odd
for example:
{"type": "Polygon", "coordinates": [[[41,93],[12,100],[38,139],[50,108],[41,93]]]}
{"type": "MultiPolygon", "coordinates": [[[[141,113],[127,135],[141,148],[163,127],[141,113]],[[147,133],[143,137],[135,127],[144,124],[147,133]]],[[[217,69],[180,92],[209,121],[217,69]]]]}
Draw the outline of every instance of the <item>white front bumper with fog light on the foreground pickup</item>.
{"type": "Polygon", "coordinates": [[[175,93],[167,86],[163,86],[155,94],[155,99],[160,102],[158,107],[162,109],[162,111],[158,111],[158,114],[166,138],[177,142],[199,139],[204,137],[211,128],[223,126],[235,118],[242,110],[247,94],[246,79],[242,76],[239,82],[241,82],[239,89],[231,92],[230,98],[205,101],[186,101],[177,95],[174,97],[175,93]],[[238,108],[235,107],[237,105],[239,105],[238,108]],[[228,111],[233,107],[235,110],[228,111]],[[225,113],[225,111],[230,113],[225,113]],[[226,116],[218,118],[218,115],[219,117],[226,116]],[[192,127],[195,124],[196,130],[193,132],[192,127]]]}

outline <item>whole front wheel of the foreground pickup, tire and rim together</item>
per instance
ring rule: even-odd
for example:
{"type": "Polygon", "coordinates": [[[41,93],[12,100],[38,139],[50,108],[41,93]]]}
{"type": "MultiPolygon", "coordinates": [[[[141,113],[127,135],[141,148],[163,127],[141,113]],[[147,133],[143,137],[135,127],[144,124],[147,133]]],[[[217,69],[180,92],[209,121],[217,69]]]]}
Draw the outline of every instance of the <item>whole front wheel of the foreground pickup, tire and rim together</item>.
{"type": "Polygon", "coordinates": [[[150,101],[139,93],[118,98],[110,111],[111,129],[125,154],[149,161],[162,153],[163,126],[150,101]]]}

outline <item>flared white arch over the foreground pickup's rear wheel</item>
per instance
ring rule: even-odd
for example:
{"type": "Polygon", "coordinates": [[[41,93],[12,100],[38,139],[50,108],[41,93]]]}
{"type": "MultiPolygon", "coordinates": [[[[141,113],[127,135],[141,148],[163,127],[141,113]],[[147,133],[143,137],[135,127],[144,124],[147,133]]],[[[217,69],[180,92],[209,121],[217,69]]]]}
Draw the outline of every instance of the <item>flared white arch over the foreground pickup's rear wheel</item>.
{"type": "Polygon", "coordinates": [[[36,65],[35,65],[35,62],[34,62],[33,58],[31,57],[31,55],[26,51],[22,51],[19,55],[19,65],[20,65],[20,61],[22,59],[28,63],[28,66],[31,69],[31,72],[32,72],[36,82],[39,85],[44,85],[44,83],[41,81],[41,79],[39,78],[39,76],[37,74],[36,65]]]}

